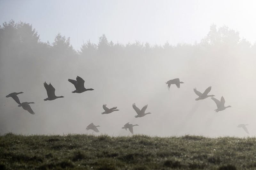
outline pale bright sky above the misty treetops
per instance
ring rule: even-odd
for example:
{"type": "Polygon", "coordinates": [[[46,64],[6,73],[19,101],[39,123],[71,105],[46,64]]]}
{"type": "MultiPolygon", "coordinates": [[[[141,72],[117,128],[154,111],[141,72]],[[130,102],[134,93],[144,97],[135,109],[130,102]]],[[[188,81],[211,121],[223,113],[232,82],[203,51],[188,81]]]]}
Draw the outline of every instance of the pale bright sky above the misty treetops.
{"type": "Polygon", "coordinates": [[[33,25],[41,41],[53,42],[58,33],[71,38],[75,49],[89,39],[163,45],[199,42],[211,24],[227,25],[241,38],[256,40],[255,1],[234,0],[44,0],[0,1],[0,22],[13,19],[33,25]]]}

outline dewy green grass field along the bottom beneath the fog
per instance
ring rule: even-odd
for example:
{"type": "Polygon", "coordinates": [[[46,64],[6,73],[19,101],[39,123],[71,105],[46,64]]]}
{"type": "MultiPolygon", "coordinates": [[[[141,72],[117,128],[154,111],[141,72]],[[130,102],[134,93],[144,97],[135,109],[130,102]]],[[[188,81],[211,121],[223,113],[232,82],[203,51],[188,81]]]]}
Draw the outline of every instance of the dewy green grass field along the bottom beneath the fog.
{"type": "Polygon", "coordinates": [[[256,138],[7,133],[0,169],[256,169],[256,138]]]}

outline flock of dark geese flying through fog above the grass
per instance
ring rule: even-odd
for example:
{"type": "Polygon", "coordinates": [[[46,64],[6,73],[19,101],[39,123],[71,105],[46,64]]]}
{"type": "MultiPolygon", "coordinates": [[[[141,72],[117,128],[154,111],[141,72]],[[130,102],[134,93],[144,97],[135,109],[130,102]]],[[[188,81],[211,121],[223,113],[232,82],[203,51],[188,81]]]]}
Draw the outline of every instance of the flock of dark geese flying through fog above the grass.
{"type": "MultiPolygon", "coordinates": [[[[72,93],[82,93],[82,92],[94,90],[92,88],[86,89],[84,87],[84,79],[79,77],[79,76],[76,77],[76,80],[68,79],[68,81],[70,83],[72,83],[76,88],[76,90],[73,91],[72,93]]],[[[180,84],[183,84],[183,83],[184,82],[181,82],[179,78],[175,78],[175,79],[172,79],[172,80],[169,80],[169,81],[166,82],[166,84],[168,85],[167,86],[168,90],[170,90],[171,85],[176,85],[178,88],[180,88],[180,84]]],[[[44,88],[46,89],[47,96],[48,96],[46,99],[44,99],[44,101],[46,101],[46,100],[55,100],[55,99],[64,97],[64,96],[56,96],[55,95],[55,88],[51,85],[51,83],[47,84],[46,82],[44,82],[44,88]]],[[[196,88],[194,88],[194,92],[198,96],[198,98],[196,98],[195,100],[196,101],[197,100],[204,100],[208,97],[211,97],[211,99],[217,105],[217,109],[215,109],[216,112],[219,112],[219,111],[225,110],[228,107],[231,107],[231,106],[226,106],[226,107],[224,106],[225,99],[224,99],[223,96],[221,97],[220,100],[218,100],[218,99],[214,98],[214,95],[208,95],[208,93],[211,91],[211,89],[212,89],[212,87],[210,86],[203,93],[201,93],[196,88]]],[[[21,94],[21,93],[23,93],[23,92],[12,92],[12,93],[8,94],[6,97],[12,97],[12,99],[15,100],[19,104],[18,107],[22,107],[24,110],[27,110],[30,114],[34,115],[35,112],[31,109],[31,107],[29,105],[29,104],[32,104],[34,102],[22,102],[21,103],[19,97],[17,96],[18,94],[21,94]]],[[[117,107],[108,108],[107,104],[104,104],[102,107],[104,109],[104,112],[102,112],[101,114],[110,114],[112,112],[119,111],[117,109],[117,107]]],[[[137,115],[135,115],[135,118],[143,117],[145,115],[151,114],[150,112],[145,113],[148,105],[145,105],[144,107],[142,107],[141,110],[135,105],[135,103],[132,104],[132,107],[135,110],[135,112],[137,113],[137,115]]],[[[247,134],[249,134],[249,131],[246,128],[246,125],[248,125],[248,124],[239,124],[239,125],[237,125],[237,127],[238,128],[243,128],[244,131],[247,134]]],[[[132,124],[129,124],[129,122],[128,122],[124,125],[124,127],[122,127],[122,129],[125,129],[125,130],[129,129],[130,132],[133,134],[133,126],[139,126],[139,125],[138,124],[132,125],[132,124]]],[[[99,125],[95,126],[93,123],[91,123],[86,127],[86,130],[92,129],[95,132],[99,132],[97,127],[100,127],[100,126],[99,125]]]]}

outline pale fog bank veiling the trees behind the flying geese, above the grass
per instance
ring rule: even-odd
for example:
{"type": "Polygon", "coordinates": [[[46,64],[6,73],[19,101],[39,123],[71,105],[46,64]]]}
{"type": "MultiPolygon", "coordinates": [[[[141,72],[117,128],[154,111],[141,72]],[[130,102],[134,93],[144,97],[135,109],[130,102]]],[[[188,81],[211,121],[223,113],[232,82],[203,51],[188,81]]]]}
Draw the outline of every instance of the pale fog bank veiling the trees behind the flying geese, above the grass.
{"type": "MultiPolygon", "coordinates": [[[[130,122],[139,125],[133,128],[134,134],[150,136],[247,137],[238,124],[249,124],[249,136],[255,136],[256,46],[241,37],[239,30],[212,24],[218,22],[212,20],[206,29],[198,30],[205,33],[203,37],[196,34],[200,41],[181,39],[170,44],[166,38],[156,44],[143,39],[109,39],[102,26],[94,37],[97,41],[81,37],[84,44],[74,48],[68,35],[54,32],[52,42],[42,41],[41,34],[47,32],[43,28],[39,32],[34,23],[11,19],[3,20],[0,27],[1,134],[131,136],[129,130],[121,129],[130,122]],[[85,80],[85,88],[94,90],[71,93],[75,87],[68,79],[76,76],[85,80]],[[171,85],[168,91],[165,82],[174,78],[184,84],[180,88],[171,85]],[[44,81],[51,82],[56,96],[64,98],[44,101],[44,81]],[[211,98],[195,101],[198,96],[193,88],[204,92],[209,86],[209,94],[218,100],[223,96],[225,106],[232,107],[216,113],[211,98]],[[30,106],[36,114],[5,97],[11,92],[24,92],[18,95],[20,101],[35,102],[30,106]],[[132,103],[140,109],[148,104],[146,112],[152,114],[135,118],[132,103]],[[101,115],[103,104],[120,111],[101,115]],[[92,122],[100,125],[100,133],[85,129],[92,122]]],[[[76,27],[71,32],[76,33],[76,27]]],[[[185,32],[183,28],[179,34],[185,32]]],[[[123,33],[126,37],[132,34],[123,33]]]]}

